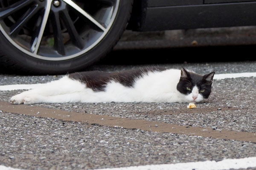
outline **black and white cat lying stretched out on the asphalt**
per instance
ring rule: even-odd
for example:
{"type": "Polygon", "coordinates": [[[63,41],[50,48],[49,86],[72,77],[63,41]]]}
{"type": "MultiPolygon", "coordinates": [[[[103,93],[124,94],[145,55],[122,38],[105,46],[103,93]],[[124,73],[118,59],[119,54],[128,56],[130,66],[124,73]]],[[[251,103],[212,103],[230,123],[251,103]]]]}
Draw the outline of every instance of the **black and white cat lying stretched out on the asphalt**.
{"type": "Polygon", "coordinates": [[[66,75],[12,96],[13,104],[65,102],[189,102],[207,99],[215,72],[204,76],[181,69],[137,68],[66,75]]]}

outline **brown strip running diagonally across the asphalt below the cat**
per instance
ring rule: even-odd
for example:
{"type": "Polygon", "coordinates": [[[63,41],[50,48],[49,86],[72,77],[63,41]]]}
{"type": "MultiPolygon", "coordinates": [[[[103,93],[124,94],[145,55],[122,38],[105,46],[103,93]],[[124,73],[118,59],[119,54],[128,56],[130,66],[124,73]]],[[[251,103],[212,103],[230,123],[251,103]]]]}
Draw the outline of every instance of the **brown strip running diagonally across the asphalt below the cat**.
{"type": "Polygon", "coordinates": [[[256,142],[256,133],[251,132],[212,130],[212,128],[209,127],[180,126],[175,124],[146,121],[141,119],[128,119],[88,113],[67,112],[31,105],[11,105],[8,102],[2,101],[0,101],[0,110],[9,113],[61,119],[64,121],[85,122],[89,124],[97,124],[110,127],[123,127],[128,129],[141,129],[163,133],[178,133],[191,136],[203,136],[218,139],[256,142]]]}

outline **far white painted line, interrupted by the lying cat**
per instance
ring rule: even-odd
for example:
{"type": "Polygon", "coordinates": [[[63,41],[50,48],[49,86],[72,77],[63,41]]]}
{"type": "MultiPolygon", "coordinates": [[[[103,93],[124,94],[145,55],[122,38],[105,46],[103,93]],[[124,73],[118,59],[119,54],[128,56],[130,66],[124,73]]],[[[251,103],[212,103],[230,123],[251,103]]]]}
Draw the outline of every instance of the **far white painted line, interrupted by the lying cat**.
{"type": "MultiPolygon", "coordinates": [[[[256,72],[252,73],[230,73],[230,74],[215,74],[213,79],[231,79],[239,77],[256,77],[256,72]]],[[[21,84],[21,85],[0,85],[0,91],[13,91],[13,90],[29,90],[33,88],[38,88],[44,84],[21,84]]]]}

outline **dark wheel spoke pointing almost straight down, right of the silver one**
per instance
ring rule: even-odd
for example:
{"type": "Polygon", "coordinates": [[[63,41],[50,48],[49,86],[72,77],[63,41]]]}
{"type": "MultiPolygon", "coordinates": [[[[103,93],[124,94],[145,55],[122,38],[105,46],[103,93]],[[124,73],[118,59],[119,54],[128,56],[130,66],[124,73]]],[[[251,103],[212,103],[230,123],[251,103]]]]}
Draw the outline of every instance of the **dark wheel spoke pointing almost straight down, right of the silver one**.
{"type": "Polygon", "coordinates": [[[61,33],[61,23],[58,12],[52,13],[52,27],[54,29],[54,48],[59,54],[65,55],[64,42],[61,33]]]}

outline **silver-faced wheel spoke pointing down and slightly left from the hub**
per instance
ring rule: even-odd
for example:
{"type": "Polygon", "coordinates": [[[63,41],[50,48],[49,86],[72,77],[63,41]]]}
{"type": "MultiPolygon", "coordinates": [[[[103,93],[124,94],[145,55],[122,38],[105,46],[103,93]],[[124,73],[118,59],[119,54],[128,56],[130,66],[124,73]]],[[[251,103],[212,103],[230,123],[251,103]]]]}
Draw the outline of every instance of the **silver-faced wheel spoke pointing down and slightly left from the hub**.
{"type": "Polygon", "coordinates": [[[49,13],[50,13],[50,10],[51,10],[51,4],[52,4],[52,0],[47,0],[47,5],[46,5],[45,11],[44,11],[44,17],[43,17],[43,20],[42,20],[42,23],[41,23],[41,27],[40,27],[40,31],[38,33],[38,37],[35,37],[35,42],[33,43],[32,47],[31,47],[31,50],[34,54],[38,53],[39,45],[41,43],[41,40],[42,40],[42,37],[43,37],[43,34],[44,34],[44,29],[45,29],[45,26],[46,26],[46,23],[47,23],[47,20],[48,20],[48,17],[49,17],[49,13]]]}

